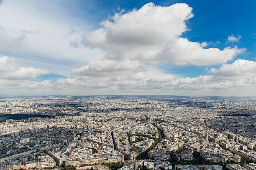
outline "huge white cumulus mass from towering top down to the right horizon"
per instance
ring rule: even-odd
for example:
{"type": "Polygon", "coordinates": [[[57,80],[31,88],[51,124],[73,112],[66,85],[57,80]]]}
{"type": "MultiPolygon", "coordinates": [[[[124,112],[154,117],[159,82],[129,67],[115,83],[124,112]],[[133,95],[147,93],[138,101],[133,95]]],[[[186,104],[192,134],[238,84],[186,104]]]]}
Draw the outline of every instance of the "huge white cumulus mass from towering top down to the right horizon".
{"type": "Polygon", "coordinates": [[[207,48],[211,42],[192,42],[181,37],[189,30],[186,23],[193,16],[192,8],[182,3],[168,7],[148,3],[139,10],[116,13],[103,21],[101,28],[82,38],[85,46],[104,50],[105,57],[72,69],[74,78],[58,82],[63,87],[68,82],[76,87],[102,90],[105,94],[114,91],[117,94],[233,95],[234,89],[236,94],[253,89],[255,62],[238,59],[225,64],[245,49],[236,45],[223,50],[207,48]],[[191,78],[164,74],[155,67],[159,63],[221,66],[208,70],[210,75],[191,78]]]}

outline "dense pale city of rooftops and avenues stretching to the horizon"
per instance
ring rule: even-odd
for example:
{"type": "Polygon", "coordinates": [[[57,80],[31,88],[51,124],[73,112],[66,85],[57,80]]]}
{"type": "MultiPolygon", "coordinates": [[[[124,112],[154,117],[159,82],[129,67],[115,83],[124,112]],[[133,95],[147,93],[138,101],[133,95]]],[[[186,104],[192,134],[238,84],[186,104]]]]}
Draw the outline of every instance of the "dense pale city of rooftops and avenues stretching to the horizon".
{"type": "Polygon", "coordinates": [[[0,170],[256,169],[255,97],[2,97],[0,121],[0,170]]]}

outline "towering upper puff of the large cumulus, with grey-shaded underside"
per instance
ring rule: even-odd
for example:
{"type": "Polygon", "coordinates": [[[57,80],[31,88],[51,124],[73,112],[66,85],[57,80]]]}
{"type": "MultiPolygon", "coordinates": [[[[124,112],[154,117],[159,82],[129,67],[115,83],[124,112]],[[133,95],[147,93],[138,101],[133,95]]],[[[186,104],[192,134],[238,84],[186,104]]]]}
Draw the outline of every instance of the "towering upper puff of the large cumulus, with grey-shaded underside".
{"type": "Polygon", "coordinates": [[[187,30],[185,21],[192,18],[191,11],[187,4],[161,7],[151,2],[139,10],[116,13],[110,18],[113,22],[103,21],[102,28],[85,35],[84,41],[109,48],[110,45],[151,45],[161,43],[163,39],[176,39],[187,30]]]}

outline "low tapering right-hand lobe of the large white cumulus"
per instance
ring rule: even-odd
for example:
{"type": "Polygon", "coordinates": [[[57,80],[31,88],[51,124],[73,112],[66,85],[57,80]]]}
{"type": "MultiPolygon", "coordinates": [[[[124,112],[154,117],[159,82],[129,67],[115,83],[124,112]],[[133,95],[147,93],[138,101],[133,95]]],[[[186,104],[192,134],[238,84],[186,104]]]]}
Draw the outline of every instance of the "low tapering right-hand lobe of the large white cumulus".
{"type": "Polygon", "coordinates": [[[245,49],[225,47],[202,48],[199,42],[190,42],[186,38],[179,38],[166,51],[157,56],[162,62],[169,61],[174,65],[219,65],[232,60],[234,56],[244,52],[245,49]]]}

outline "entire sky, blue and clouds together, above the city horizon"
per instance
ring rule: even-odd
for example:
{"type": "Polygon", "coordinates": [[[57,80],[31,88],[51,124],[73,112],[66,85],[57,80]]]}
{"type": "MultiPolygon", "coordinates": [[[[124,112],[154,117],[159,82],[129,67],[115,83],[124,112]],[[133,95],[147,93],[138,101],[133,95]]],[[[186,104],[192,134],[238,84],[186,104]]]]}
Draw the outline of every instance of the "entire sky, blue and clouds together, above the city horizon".
{"type": "Polygon", "coordinates": [[[0,89],[256,95],[255,9],[253,0],[1,0],[0,89]]]}

